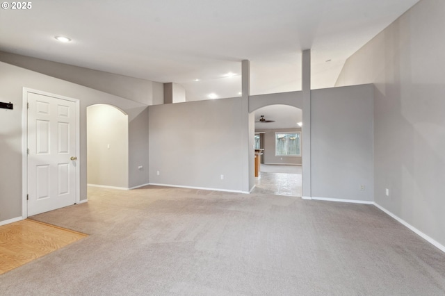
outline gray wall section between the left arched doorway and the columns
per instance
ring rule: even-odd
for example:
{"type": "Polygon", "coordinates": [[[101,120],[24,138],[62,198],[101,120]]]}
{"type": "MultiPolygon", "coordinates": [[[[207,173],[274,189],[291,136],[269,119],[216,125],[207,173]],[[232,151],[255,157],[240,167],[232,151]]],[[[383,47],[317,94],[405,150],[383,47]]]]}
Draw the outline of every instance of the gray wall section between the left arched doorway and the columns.
{"type": "Polygon", "coordinates": [[[149,106],[150,183],[241,191],[242,129],[241,98],[149,106]]]}

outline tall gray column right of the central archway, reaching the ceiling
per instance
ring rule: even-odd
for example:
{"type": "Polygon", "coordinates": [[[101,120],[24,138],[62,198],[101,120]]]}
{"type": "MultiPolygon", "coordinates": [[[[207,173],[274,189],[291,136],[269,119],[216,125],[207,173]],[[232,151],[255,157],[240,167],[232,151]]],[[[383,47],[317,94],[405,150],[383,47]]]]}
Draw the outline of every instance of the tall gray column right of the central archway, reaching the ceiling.
{"type": "Polygon", "coordinates": [[[311,199],[311,50],[302,51],[302,198],[311,199]]]}

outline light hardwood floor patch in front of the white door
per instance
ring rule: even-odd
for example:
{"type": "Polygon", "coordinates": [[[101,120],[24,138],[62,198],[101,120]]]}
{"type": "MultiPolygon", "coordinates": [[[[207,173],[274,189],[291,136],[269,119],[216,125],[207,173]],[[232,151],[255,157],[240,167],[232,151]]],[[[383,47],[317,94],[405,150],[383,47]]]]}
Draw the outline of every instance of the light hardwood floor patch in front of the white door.
{"type": "Polygon", "coordinates": [[[0,274],[88,236],[35,220],[0,227],[0,274]]]}

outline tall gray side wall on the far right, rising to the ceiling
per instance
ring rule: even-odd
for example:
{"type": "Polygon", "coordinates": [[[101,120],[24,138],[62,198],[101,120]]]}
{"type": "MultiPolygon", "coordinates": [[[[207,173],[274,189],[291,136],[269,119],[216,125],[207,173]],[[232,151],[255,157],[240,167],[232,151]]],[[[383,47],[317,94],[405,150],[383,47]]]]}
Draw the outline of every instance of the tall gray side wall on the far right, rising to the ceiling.
{"type": "Polygon", "coordinates": [[[445,1],[419,1],[348,58],[337,82],[375,83],[375,202],[442,245],[444,11],[445,1]]]}

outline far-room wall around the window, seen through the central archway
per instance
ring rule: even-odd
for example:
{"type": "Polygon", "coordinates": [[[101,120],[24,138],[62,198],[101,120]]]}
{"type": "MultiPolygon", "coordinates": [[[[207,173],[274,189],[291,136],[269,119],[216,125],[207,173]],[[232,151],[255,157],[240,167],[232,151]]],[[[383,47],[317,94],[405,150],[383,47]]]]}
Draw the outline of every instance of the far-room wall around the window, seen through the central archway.
{"type": "Polygon", "coordinates": [[[278,163],[287,165],[301,165],[301,156],[275,156],[275,132],[301,131],[298,129],[257,129],[255,132],[264,132],[264,163],[278,163]]]}

